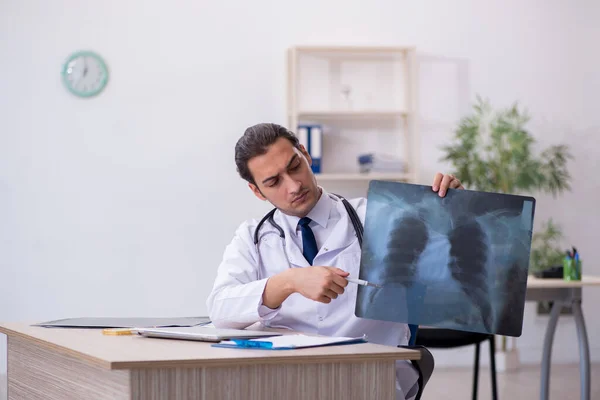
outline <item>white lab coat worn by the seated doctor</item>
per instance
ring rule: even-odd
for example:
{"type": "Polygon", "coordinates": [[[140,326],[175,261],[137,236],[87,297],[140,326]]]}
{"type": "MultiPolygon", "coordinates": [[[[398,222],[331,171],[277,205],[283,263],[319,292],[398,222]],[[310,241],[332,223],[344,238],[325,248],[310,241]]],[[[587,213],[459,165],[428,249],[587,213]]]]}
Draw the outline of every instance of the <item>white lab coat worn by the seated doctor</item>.
{"type": "MultiPolygon", "coordinates": [[[[324,196],[328,194],[323,191],[324,196]]],[[[361,249],[352,222],[340,200],[333,200],[340,214],[313,265],[334,266],[359,276],[361,249]]],[[[364,198],[349,200],[364,224],[364,198]]],[[[286,238],[295,235],[280,211],[274,220],[285,232],[286,238]]],[[[327,336],[367,336],[369,342],[389,346],[408,343],[408,326],[400,323],[375,321],[354,315],[357,285],[348,284],[344,294],[329,304],[316,302],[298,293],[292,294],[275,311],[265,312],[262,294],[267,279],[288,268],[309,266],[302,249],[294,240],[285,241],[268,222],[260,230],[258,248],[254,245],[257,220],[241,224],[232,242],[226,247],[219,265],[217,278],[207,299],[207,308],[216,327],[242,329],[255,323],[267,327],[287,328],[327,336]],[[284,245],[285,243],[285,245],[284,245]]],[[[404,400],[404,392],[416,383],[418,375],[406,361],[397,363],[397,399],[404,400]]]]}

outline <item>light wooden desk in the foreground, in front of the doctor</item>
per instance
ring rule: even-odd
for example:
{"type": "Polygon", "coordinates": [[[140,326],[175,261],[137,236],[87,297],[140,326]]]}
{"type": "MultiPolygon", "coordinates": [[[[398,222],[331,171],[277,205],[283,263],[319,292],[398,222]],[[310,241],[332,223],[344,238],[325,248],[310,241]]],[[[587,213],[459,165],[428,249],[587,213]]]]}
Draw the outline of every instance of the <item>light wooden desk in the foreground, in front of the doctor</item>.
{"type": "Polygon", "coordinates": [[[0,332],[9,400],[393,399],[395,361],[419,358],[371,343],[268,351],[16,323],[0,332]]]}

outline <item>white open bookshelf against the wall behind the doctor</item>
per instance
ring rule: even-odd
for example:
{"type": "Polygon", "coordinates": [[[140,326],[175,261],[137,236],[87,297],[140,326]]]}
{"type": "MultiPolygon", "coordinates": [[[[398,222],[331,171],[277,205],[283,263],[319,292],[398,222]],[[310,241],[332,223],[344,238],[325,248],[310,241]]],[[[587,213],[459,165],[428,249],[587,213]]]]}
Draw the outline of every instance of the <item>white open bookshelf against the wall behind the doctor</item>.
{"type": "Polygon", "coordinates": [[[414,47],[296,46],[288,50],[288,126],[324,128],[321,181],[418,178],[414,47]],[[395,173],[360,173],[363,153],[399,156],[395,173]]]}

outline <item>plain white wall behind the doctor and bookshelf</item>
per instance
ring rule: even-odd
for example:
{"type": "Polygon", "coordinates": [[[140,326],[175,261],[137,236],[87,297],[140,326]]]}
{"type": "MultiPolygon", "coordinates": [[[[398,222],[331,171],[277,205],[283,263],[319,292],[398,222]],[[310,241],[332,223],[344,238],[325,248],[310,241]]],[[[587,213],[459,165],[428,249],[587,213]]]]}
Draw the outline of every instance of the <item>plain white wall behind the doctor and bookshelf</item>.
{"type": "MultiPolygon", "coordinates": [[[[268,209],[237,177],[233,145],[248,125],[284,123],[294,44],[417,46],[423,183],[475,93],[526,105],[540,142],[577,155],[573,192],[538,196],[537,221],[554,216],[600,274],[598,17],[593,0],[1,2],[0,320],[205,315],[234,229],[268,209]],[[61,85],[82,48],[111,70],[95,99],[61,85]]],[[[600,293],[584,297],[598,361],[600,293]]],[[[546,318],[532,306],[519,343],[537,362],[546,318]]],[[[575,338],[565,318],[554,360],[576,359],[575,338]]]]}

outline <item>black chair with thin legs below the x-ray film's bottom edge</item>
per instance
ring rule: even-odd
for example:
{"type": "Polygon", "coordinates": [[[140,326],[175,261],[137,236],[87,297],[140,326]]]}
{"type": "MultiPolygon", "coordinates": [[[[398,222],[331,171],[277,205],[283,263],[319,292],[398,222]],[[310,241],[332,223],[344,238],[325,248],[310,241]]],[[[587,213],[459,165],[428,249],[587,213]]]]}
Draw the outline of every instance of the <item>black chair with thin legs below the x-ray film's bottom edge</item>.
{"type": "Polygon", "coordinates": [[[479,346],[482,342],[490,342],[490,371],[492,380],[492,399],[498,399],[496,385],[496,340],[494,335],[477,332],[462,332],[451,329],[421,328],[418,331],[415,345],[429,348],[448,349],[462,346],[475,345],[475,365],[473,366],[473,400],[477,399],[477,385],[479,381],[479,346]]]}

